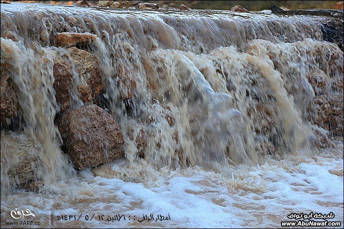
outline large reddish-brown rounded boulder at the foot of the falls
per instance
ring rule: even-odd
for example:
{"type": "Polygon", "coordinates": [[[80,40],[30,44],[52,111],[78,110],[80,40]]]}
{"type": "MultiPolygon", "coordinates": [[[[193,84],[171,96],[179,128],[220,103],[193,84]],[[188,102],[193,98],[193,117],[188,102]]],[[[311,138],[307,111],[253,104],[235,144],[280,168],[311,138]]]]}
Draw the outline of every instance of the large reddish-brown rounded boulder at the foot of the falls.
{"type": "Polygon", "coordinates": [[[63,150],[75,168],[95,167],[123,156],[124,138],[111,115],[97,105],[71,109],[57,118],[63,150]]]}

